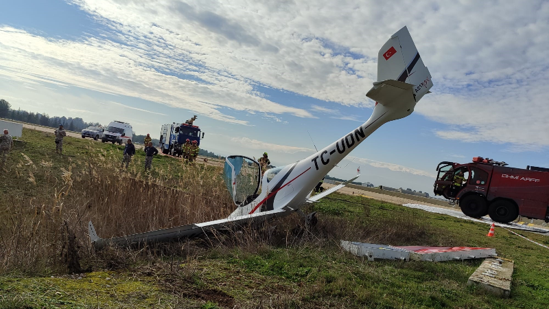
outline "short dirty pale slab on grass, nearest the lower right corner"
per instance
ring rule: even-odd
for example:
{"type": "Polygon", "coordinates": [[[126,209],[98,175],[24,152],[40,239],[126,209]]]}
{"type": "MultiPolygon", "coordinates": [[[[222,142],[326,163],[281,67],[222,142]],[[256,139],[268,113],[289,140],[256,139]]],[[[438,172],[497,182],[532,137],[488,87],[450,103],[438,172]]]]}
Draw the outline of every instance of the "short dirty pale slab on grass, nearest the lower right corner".
{"type": "Polygon", "coordinates": [[[501,258],[487,258],[467,280],[468,286],[477,286],[502,298],[511,296],[514,262],[501,258]]]}

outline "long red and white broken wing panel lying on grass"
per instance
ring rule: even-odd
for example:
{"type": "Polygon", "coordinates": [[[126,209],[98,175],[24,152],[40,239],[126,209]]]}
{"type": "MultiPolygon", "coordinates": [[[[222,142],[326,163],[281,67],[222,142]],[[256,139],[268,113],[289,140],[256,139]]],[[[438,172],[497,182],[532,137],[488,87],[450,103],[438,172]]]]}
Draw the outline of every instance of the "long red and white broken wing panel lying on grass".
{"type": "Polygon", "coordinates": [[[341,241],[341,247],[354,255],[365,257],[369,261],[378,259],[443,262],[498,256],[493,248],[478,247],[389,246],[386,244],[367,244],[346,240],[341,241]]]}

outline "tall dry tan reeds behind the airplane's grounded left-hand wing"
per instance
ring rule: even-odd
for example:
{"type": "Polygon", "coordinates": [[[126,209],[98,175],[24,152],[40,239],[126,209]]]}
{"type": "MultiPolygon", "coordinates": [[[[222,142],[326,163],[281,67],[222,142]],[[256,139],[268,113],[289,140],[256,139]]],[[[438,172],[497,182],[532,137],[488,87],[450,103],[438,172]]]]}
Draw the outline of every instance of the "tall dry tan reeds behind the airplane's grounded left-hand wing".
{"type": "Polygon", "coordinates": [[[40,273],[65,268],[75,250],[89,258],[87,222],[102,238],[204,222],[234,210],[220,168],[173,162],[154,177],[104,152],[85,163],[53,170],[51,161],[33,162],[21,154],[10,181],[29,196],[0,196],[0,273],[40,273]]]}

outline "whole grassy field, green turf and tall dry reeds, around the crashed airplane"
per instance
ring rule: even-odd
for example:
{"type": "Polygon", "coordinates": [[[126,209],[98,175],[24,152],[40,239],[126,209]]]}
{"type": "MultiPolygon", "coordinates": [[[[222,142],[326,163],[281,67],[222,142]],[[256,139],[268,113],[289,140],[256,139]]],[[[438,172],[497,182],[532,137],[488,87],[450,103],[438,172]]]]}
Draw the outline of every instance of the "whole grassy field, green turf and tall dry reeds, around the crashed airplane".
{"type": "MultiPolygon", "coordinates": [[[[0,308],[549,308],[549,250],[496,227],[334,194],[298,216],[207,238],[95,252],[101,237],[224,218],[220,168],[144,155],[120,170],[121,146],[23,130],[0,174],[0,308]],[[493,247],[515,260],[510,299],[466,286],[480,260],[367,262],[340,240],[493,247]],[[80,268],[76,273],[71,270],[80,268]]],[[[521,232],[522,233],[522,232],[521,232]]],[[[549,238],[524,236],[549,244],[549,238]]]]}

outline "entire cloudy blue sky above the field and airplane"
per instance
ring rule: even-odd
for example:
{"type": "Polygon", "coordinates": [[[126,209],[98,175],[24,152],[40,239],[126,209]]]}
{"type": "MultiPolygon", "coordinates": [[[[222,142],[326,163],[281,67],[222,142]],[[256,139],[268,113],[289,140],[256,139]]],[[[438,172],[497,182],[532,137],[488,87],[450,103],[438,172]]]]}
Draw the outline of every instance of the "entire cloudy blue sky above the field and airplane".
{"type": "Polygon", "coordinates": [[[432,192],[440,161],[549,167],[547,1],[255,2],[2,1],[0,98],[153,136],[196,114],[204,148],[283,165],[307,130],[321,148],[368,119],[379,47],[407,25],[432,93],[329,174],[432,192]]]}

